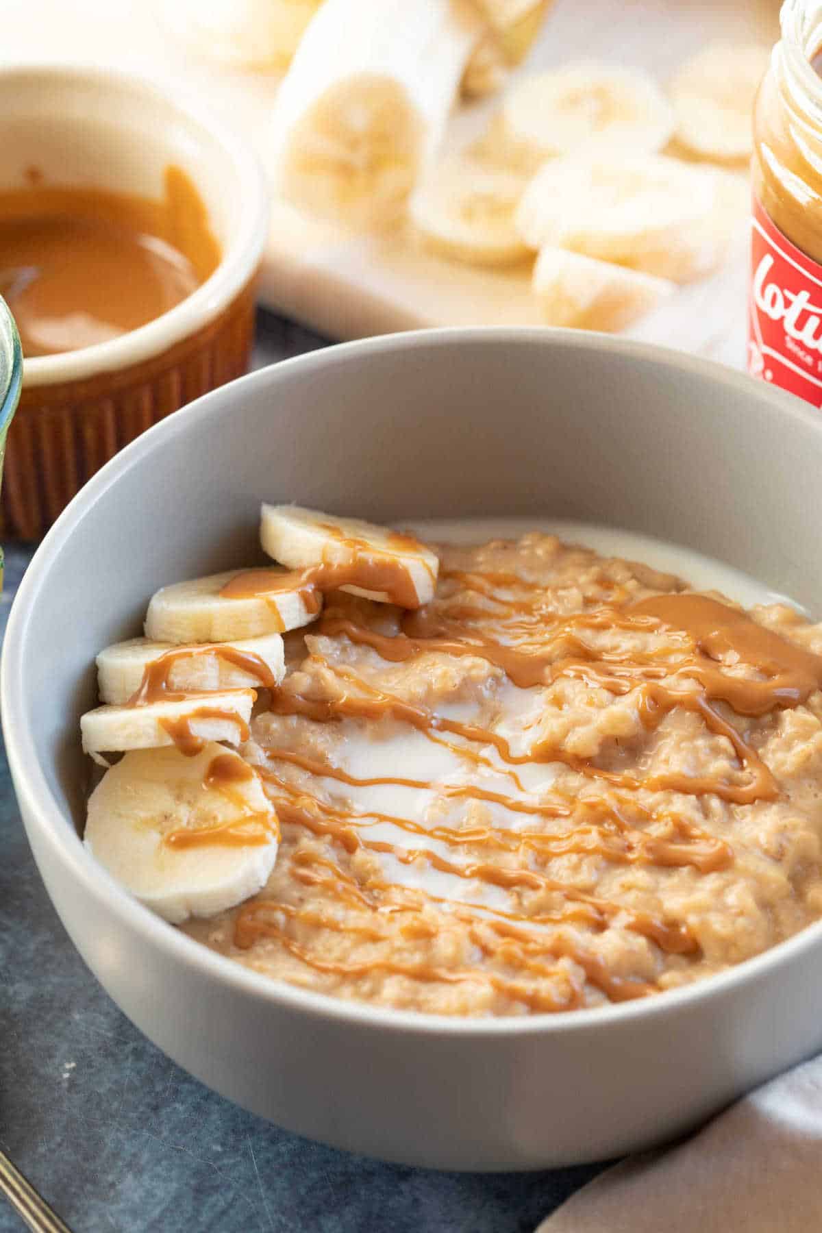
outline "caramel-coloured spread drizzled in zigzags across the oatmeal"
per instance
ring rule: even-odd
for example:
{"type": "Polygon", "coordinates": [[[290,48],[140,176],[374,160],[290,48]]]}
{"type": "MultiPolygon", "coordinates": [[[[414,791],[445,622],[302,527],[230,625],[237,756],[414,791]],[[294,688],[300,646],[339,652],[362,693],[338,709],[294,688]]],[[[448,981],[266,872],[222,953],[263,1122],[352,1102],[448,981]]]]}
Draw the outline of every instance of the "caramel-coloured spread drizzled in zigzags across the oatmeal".
{"type": "MultiPolygon", "coordinates": [[[[322,567],[318,576],[322,577],[322,567]]],[[[329,572],[323,581],[330,582],[333,577],[329,572]]],[[[336,575],[335,581],[339,577],[350,581],[348,573],[336,575]]],[[[356,582],[364,586],[361,578],[356,582]]],[[[592,689],[606,690],[614,697],[630,695],[648,732],[677,709],[691,711],[709,732],[730,742],[739,778],[673,772],[640,777],[600,767],[595,760],[572,756],[561,746],[542,745],[539,740],[527,751],[514,752],[510,741],[493,727],[447,718],[419,702],[398,697],[314,649],[306,662],[332,673],[339,688],[315,697],[311,690],[288,688],[286,682],[285,688],[271,693],[274,714],[299,716],[319,725],[343,721],[376,725],[389,716],[446,745],[470,763],[493,764],[498,771],[502,764],[503,772],[519,788],[516,767],[551,762],[564,764],[594,784],[605,782],[610,790],[604,795],[583,797],[557,789],[532,803],[479,784],[446,787],[447,797],[486,801],[514,814],[531,815],[540,824],[562,819],[564,830],[553,834],[537,826],[511,831],[493,821],[463,827],[429,825],[371,809],[330,804],[319,789],[317,793],[306,790],[304,776],[299,787],[295,787],[279,772],[279,766],[291,764],[318,784],[327,779],[351,787],[394,784],[425,790],[431,787],[425,779],[402,774],[357,778],[311,753],[270,747],[260,773],[283,825],[293,835],[308,832],[330,841],[328,851],[340,853],[335,859],[298,847],[291,858],[290,877],[296,883],[322,887],[324,895],[355,910],[357,916],[338,917],[328,911],[318,915],[315,905],[295,906],[264,895],[245,904],[235,916],[234,943],[240,951],[267,938],[301,964],[341,981],[356,981],[380,970],[418,983],[484,984],[531,1011],[583,1005],[585,980],[609,1000],[645,996],[657,988],[654,981],[609,972],[599,956],[585,946],[584,933],[578,932],[580,928],[596,936],[617,924],[647,938],[663,953],[699,957],[699,946],[684,922],[588,894],[552,878],[543,868],[557,856],[576,853],[612,864],[691,867],[698,874],[727,869],[733,862],[730,843],[702,831],[670,805],[649,808],[638,799],[638,793],[674,790],[696,798],[714,794],[738,806],[778,798],[779,784],[759,758],[752,739],[741,734],[739,727],[744,731],[744,725],[737,716],[758,719],[807,702],[822,683],[822,658],[710,596],[673,591],[637,602],[630,587],[608,577],[600,582],[601,603],[585,612],[567,614],[551,608],[546,586],[516,573],[444,570],[434,603],[399,615],[394,633],[383,631],[385,621],[380,630],[372,628],[367,614],[364,619],[361,605],[354,605],[352,610],[351,604],[333,599],[327,600],[325,612],[313,630],[333,642],[367,647],[387,665],[407,663],[426,655],[484,660],[518,689],[545,688],[562,678],[580,679],[592,689]],[[451,594],[442,594],[444,583],[451,594]],[[458,588],[456,598],[455,587],[458,588]],[[665,637],[658,649],[603,650],[589,635],[608,630],[622,630],[629,635],[662,631],[665,637]],[[450,742],[449,736],[456,742],[450,742]],[[492,761],[489,751],[495,760],[492,761]],[[398,847],[371,838],[368,831],[380,824],[389,824],[413,836],[413,846],[398,847]],[[434,843],[439,851],[429,846],[434,843]],[[456,854],[467,852],[470,859],[442,856],[442,845],[456,854]],[[474,858],[478,850],[488,858],[474,858]],[[472,883],[502,887],[514,895],[521,890],[548,891],[558,906],[548,914],[535,915],[516,909],[472,907],[425,894],[423,903],[445,903],[449,919],[470,928],[482,962],[460,969],[417,959],[386,958],[385,953],[370,961],[329,958],[312,948],[301,926],[367,936],[375,943],[391,938],[387,925],[397,914],[408,917],[401,930],[403,937],[426,937],[433,928],[423,919],[420,891],[409,891],[389,879],[375,882],[371,878],[367,891],[357,883],[344,868],[343,859],[357,852],[386,854],[401,864],[426,863],[435,870],[472,883]],[[497,863],[497,854],[515,857],[515,864],[497,863]],[[500,975],[500,968],[508,974],[500,975]],[[545,984],[536,989],[529,984],[529,977],[548,975],[553,980],[548,991],[545,984]]],[[[338,581],[338,584],[341,583],[338,581]]],[[[371,580],[367,587],[387,589],[385,578],[371,580]]]]}

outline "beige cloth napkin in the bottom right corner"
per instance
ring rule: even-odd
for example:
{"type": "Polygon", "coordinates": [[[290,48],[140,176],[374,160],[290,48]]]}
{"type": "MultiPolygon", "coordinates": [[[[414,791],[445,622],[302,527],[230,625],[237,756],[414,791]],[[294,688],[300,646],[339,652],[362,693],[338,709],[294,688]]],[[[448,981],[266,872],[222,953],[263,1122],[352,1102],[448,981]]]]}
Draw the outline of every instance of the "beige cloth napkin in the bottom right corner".
{"type": "Polygon", "coordinates": [[[536,1233],[822,1233],[822,1055],[608,1169],[536,1233]]]}

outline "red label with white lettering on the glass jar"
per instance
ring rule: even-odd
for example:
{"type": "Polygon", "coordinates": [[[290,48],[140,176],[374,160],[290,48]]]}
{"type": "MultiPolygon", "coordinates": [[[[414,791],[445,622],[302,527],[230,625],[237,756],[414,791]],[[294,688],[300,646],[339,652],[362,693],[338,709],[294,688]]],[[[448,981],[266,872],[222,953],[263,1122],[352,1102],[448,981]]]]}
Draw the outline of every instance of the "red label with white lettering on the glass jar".
{"type": "Polygon", "coordinates": [[[748,372],[822,407],[822,265],[774,227],[757,197],[751,227],[748,372]]]}

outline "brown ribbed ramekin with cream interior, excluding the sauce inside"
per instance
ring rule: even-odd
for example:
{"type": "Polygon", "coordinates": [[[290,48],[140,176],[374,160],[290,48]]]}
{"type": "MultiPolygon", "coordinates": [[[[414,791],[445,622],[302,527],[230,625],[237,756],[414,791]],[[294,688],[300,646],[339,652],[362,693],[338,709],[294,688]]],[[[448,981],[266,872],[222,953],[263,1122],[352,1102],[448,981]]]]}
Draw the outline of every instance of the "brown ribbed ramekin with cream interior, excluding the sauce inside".
{"type": "Polygon", "coordinates": [[[85,481],[157,420],[248,366],[269,227],[262,170],[240,137],[149,80],[63,65],[0,69],[0,189],[31,182],[163,195],[168,166],[197,189],[219,242],[181,303],[95,346],[23,361],[0,533],[36,539],[85,481]]]}

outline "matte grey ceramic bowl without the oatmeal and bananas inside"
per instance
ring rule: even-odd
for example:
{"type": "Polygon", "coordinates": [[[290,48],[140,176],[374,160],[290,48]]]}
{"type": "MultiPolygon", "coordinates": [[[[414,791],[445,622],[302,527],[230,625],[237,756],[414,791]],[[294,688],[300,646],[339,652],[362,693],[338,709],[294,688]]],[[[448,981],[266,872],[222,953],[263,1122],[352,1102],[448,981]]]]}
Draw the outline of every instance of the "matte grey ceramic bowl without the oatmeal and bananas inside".
{"type": "Polygon", "coordinates": [[[83,848],[78,716],[152,592],[255,552],[260,498],[399,520],[548,514],[651,533],[822,612],[822,418],[683,355],[566,332],[403,334],[207,395],[110,462],[43,541],[2,660],[9,761],[49,895],[115,1001],[293,1131],[419,1165],[530,1169],[684,1131],[822,1044],[822,925],[641,1002],[460,1021],[269,981],[138,905],[83,848]]]}

